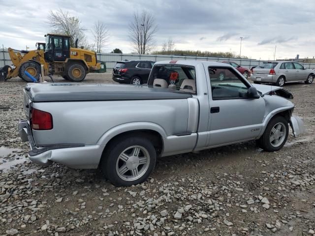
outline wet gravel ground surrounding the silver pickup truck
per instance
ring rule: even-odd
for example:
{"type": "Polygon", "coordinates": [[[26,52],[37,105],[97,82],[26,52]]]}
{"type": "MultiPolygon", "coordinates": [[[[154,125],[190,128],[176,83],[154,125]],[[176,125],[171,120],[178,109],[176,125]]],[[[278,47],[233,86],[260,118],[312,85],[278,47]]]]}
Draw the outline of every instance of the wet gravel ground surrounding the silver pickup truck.
{"type": "MultiPolygon", "coordinates": [[[[110,73],[85,82],[113,83],[110,73]]],[[[97,170],[28,160],[24,86],[0,83],[0,235],[315,236],[314,84],[285,86],[306,133],[280,151],[249,142],[163,157],[147,182],[119,188],[97,170]]]]}

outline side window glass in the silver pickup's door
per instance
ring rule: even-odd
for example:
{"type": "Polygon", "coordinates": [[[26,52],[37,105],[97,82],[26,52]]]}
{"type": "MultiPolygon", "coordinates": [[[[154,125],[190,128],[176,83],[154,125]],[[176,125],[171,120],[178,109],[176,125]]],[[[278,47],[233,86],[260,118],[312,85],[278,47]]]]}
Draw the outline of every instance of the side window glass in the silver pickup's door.
{"type": "Polygon", "coordinates": [[[213,100],[247,98],[250,86],[232,68],[210,66],[208,71],[213,100]]]}

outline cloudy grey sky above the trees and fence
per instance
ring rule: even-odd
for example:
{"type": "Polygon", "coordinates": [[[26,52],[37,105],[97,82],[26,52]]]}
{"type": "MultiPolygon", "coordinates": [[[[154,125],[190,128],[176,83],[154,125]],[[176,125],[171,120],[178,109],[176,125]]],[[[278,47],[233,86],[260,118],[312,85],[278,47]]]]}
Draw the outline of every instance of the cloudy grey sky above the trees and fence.
{"type": "Polygon", "coordinates": [[[0,0],[0,46],[35,48],[50,31],[47,15],[58,9],[80,19],[93,43],[95,20],[110,33],[108,46],[131,53],[128,26],[135,11],[155,18],[158,50],[169,37],[179,50],[240,53],[252,59],[313,58],[315,0],[0,0]]]}

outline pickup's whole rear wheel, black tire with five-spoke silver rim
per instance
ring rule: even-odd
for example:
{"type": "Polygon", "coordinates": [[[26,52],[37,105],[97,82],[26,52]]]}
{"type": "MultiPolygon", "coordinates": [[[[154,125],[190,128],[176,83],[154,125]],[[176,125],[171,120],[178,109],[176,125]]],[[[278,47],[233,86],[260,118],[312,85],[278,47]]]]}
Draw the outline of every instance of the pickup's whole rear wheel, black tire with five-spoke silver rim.
{"type": "Polygon", "coordinates": [[[113,141],[104,152],[101,169],[115,186],[131,186],[144,182],[156,164],[153,144],[141,136],[113,141]]]}

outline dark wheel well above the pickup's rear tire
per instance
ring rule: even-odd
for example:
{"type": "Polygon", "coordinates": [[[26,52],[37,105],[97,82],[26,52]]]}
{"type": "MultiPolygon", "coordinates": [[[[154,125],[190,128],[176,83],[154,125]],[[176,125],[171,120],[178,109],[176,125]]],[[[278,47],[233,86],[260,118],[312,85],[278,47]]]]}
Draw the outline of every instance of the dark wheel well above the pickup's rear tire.
{"type": "Polygon", "coordinates": [[[140,137],[145,137],[149,139],[152,142],[154,148],[156,149],[157,155],[160,155],[162,153],[163,151],[162,136],[157,131],[154,131],[154,130],[140,129],[140,130],[126,131],[124,133],[116,135],[115,137],[113,137],[111,140],[107,142],[102,154],[104,154],[106,150],[111,146],[111,144],[114,143],[115,141],[124,139],[124,138],[129,138],[132,136],[140,136],[140,137]]]}

